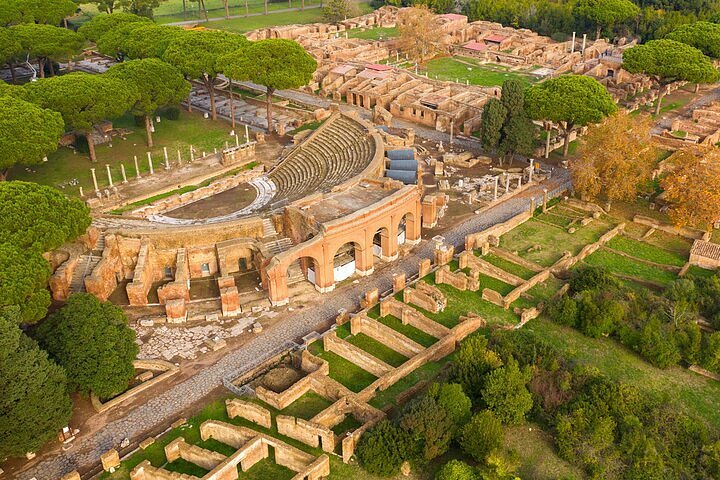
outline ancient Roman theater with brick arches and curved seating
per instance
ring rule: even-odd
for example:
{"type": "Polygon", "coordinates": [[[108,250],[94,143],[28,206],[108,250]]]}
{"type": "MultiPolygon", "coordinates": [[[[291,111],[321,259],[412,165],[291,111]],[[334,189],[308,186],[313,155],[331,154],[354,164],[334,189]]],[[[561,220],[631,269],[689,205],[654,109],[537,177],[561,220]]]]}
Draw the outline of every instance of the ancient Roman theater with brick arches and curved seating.
{"type": "Polygon", "coordinates": [[[121,305],[162,305],[169,322],[187,320],[191,300],[220,298],[227,317],[241,312],[241,295],[284,305],[296,285],[329,292],[396,259],[421,233],[412,140],[393,137],[400,146],[386,149],[389,133],[337,108],[328,114],[267,169],[253,161],[256,142],[228,147],[221,162],[244,166],[238,173],[98,215],[87,239],[93,254],[71,253],[60,265],[54,298],[85,290],[121,305]]]}

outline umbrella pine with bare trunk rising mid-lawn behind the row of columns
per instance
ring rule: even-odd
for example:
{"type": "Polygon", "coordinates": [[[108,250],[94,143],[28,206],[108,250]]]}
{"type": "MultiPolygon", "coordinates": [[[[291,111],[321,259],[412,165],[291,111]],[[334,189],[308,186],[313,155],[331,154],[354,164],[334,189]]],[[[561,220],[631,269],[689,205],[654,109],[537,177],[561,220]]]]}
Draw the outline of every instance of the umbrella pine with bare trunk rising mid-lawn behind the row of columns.
{"type": "Polygon", "coordinates": [[[118,63],[107,75],[134,85],[140,98],[132,107],[134,115],[145,117],[148,146],[153,146],[150,115],[166,105],[180,103],[190,93],[190,83],[180,71],[157,58],[118,63]]]}

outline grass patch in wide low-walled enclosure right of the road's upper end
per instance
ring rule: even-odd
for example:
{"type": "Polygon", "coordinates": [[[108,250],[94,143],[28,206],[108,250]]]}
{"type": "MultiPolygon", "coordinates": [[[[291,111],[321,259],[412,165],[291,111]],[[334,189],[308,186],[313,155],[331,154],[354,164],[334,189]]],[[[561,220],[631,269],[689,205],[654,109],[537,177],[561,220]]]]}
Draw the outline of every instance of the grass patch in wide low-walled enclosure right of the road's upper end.
{"type": "MultiPolygon", "coordinates": [[[[543,214],[538,218],[547,217],[543,214]]],[[[595,220],[584,227],[579,227],[575,233],[567,233],[533,218],[503,235],[500,238],[500,247],[510,252],[517,252],[521,257],[538,265],[549,267],[560,259],[563,250],[577,255],[585,245],[597,241],[611,228],[612,225],[608,222],[595,220]],[[541,248],[528,251],[536,245],[541,248]]]]}

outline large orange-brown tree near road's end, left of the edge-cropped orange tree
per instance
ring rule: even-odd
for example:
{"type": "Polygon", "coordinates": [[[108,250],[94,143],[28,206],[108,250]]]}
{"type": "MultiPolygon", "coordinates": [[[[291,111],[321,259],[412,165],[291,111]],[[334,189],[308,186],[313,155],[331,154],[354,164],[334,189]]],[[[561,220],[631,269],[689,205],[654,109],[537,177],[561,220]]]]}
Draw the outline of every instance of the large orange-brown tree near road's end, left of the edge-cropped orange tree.
{"type": "Polygon", "coordinates": [[[591,127],[582,140],[579,158],[570,162],[575,190],[583,198],[632,200],[650,178],[657,156],[650,141],[650,118],[617,113],[591,127]]]}

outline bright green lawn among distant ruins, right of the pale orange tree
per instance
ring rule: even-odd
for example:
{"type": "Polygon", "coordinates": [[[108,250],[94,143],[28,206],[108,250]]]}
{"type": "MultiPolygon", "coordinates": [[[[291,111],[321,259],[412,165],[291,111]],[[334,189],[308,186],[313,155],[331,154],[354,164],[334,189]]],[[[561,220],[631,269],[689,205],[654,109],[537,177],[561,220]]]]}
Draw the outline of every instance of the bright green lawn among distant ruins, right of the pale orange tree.
{"type": "Polygon", "coordinates": [[[537,79],[532,75],[511,72],[508,68],[493,64],[480,64],[465,57],[442,57],[429,60],[423,65],[430,78],[440,80],[469,82],[470,85],[483,87],[500,86],[505,80],[519,80],[529,86],[537,79]]]}

